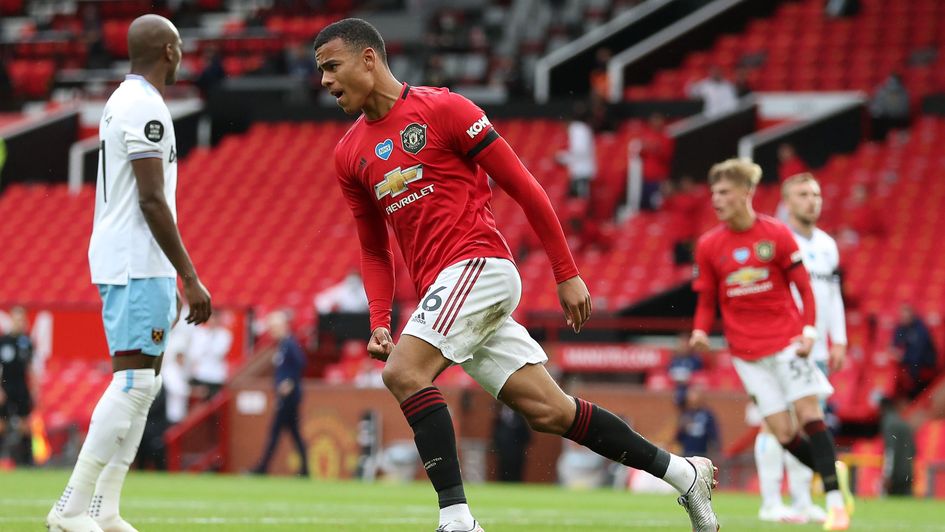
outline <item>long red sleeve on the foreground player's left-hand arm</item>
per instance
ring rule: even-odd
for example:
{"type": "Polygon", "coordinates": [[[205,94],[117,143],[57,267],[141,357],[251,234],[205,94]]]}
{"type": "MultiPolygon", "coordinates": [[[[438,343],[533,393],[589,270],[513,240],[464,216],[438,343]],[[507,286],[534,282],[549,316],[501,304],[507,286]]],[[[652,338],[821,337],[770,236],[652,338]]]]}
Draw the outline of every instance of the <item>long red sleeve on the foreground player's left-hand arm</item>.
{"type": "Polygon", "coordinates": [[[387,223],[377,210],[371,197],[351,177],[343,160],[343,154],[335,152],[335,171],[341,192],[354,214],[361,242],[361,277],[368,298],[371,314],[371,330],[378,327],[391,328],[391,306],[394,298],[394,255],[390,248],[387,223]]]}

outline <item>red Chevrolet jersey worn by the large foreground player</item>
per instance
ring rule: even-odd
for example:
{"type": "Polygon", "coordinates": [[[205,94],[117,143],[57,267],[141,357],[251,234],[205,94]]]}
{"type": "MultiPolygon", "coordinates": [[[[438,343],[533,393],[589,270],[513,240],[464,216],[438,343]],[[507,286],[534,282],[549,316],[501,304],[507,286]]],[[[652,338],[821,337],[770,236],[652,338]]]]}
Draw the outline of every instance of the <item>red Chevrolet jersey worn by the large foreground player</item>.
{"type": "Polygon", "coordinates": [[[422,295],[447,266],[473,257],[512,260],[496,229],[485,172],[476,164],[499,134],[485,113],[447,89],[404,84],[393,108],[364,115],[335,147],[355,217],[382,215],[422,295]]]}

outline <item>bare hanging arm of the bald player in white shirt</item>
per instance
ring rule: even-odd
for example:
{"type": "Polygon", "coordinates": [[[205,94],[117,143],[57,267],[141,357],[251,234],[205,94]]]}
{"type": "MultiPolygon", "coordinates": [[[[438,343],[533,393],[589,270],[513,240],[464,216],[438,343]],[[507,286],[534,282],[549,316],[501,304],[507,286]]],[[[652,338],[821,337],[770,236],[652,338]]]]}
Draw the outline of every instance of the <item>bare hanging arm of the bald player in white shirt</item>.
{"type": "Polygon", "coordinates": [[[145,158],[131,161],[138,184],[138,206],[154,240],[167,256],[184,285],[184,296],[190,304],[187,323],[200,324],[210,318],[213,307],[210,292],[197,277],[190,255],[184,247],[177,223],[164,198],[164,167],[161,159],[145,158]]]}

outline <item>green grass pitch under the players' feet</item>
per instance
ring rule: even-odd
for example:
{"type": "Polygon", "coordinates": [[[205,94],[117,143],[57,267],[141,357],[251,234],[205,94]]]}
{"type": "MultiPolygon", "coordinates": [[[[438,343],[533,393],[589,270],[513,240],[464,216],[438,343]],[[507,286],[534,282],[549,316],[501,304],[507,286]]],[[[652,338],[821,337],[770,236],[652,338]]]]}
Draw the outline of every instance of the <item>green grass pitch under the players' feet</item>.
{"type": "MultiPolygon", "coordinates": [[[[67,471],[0,473],[0,531],[43,530],[67,471]]],[[[488,532],[687,530],[669,495],[555,486],[472,485],[467,495],[488,532]]],[[[858,501],[852,530],[945,531],[945,502],[858,501]]],[[[718,492],[725,531],[809,531],[815,525],[774,525],[755,519],[758,498],[718,492]]],[[[142,532],[161,531],[425,531],[436,528],[436,503],[426,483],[323,482],[281,477],[132,473],[122,515],[142,532]]]]}

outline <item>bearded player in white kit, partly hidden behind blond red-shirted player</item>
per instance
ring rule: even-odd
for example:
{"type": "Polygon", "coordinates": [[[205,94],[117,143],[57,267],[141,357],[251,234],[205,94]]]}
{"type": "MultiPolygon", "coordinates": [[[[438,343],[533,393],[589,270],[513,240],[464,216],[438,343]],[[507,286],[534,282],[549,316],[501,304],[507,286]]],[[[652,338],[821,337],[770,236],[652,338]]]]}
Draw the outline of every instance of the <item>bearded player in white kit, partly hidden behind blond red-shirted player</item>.
{"type": "MultiPolygon", "coordinates": [[[[840,252],[834,239],[817,228],[823,198],[820,185],[813,175],[802,173],[790,177],[783,183],[781,195],[788,214],[787,225],[794,234],[804,267],[810,273],[817,305],[818,340],[814,343],[810,358],[825,375],[829,375],[843,366],[847,347],[846,319],[838,273],[840,252]]],[[[795,299],[801,305],[796,293],[795,299]]],[[[775,437],[764,428],[755,439],[755,463],[762,497],[759,518],[791,523],[823,522],[826,519],[823,508],[811,501],[813,472],[793,455],[784,452],[775,437]],[[781,502],[785,468],[792,498],[790,507],[785,507],[781,502]]],[[[843,466],[838,466],[837,474],[845,475],[847,471],[843,466]]]]}

